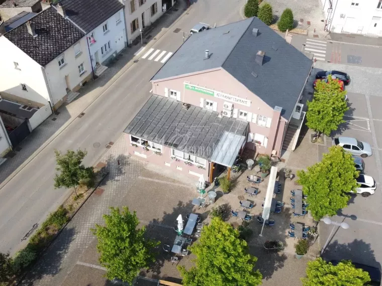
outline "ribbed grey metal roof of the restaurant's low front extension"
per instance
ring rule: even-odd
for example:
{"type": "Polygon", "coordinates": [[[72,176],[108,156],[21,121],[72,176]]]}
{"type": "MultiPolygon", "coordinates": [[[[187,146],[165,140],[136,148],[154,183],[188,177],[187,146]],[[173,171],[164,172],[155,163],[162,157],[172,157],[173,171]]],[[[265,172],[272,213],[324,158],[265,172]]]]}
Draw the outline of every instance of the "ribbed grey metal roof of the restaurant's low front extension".
{"type": "MultiPolygon", "coordinates": [[[[125,129],[125,133],[209,160],[224,133],[244,135],[248,122],[152,95],[125,129]]],[[[236,157],[236,156],[235,156],[236,157]]]]}

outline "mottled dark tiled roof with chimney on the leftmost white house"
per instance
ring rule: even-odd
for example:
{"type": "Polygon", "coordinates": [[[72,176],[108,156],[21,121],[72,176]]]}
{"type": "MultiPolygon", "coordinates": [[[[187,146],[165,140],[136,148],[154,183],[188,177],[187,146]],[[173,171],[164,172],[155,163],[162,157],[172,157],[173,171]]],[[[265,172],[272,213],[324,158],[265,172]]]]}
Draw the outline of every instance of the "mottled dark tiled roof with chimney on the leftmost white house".
{"type": "Polygon", "coordinates": [[[36,38],[28,33],[26,25],[13,29],[4,34],[4,37],[41,66],[47,65],[84,36],[51,7],[29,21],[35,26],[36,38]]]}

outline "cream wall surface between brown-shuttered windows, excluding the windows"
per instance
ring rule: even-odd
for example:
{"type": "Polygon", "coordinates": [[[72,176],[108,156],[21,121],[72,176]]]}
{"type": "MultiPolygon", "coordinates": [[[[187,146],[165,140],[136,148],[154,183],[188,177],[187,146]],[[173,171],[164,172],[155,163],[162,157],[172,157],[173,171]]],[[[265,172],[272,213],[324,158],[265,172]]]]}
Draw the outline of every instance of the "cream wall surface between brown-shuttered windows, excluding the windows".
{"type": "Polygon", "coordinates": [[[145,21],[145,27],[150,26],[152,23],[154,23],[160,16],[162,16],[162,0],[146,0],[146,2],[139,6],[140,0],[132,0],[135,3],[135,11],[131,13],[131,5],[130,0],[124,1],[125,4],[125,21],[126,21],[126,27],[127,27],[127,39],[128,44],[130,45],[132,41],[140,37],[139,29],[142,27],[142,13],[144,13],[144,21],[145,21]],[[157,13],[151,17],[151,6],[156,3],[157,5],[157,13]],[[138,19],[138,29],[131,33],[131,25],[130,23],[134,21],[135,19],[138,19]]]}

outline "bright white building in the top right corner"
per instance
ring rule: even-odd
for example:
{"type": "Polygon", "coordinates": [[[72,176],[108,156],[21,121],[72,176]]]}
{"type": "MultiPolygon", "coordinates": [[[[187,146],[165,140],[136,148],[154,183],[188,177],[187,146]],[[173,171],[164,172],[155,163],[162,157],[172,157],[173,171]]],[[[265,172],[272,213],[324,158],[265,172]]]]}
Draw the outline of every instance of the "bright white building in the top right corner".
{"type": "Polygon", "coordinates": [[[382,0],[321,0],[326,30],[382,36],[382,0]]]}

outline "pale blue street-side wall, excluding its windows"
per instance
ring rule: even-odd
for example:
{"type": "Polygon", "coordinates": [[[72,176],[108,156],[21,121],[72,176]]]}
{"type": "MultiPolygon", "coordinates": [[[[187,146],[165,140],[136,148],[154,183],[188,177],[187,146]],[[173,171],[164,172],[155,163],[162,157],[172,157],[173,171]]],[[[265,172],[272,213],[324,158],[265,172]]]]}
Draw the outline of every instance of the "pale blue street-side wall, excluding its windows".
{"type": "Polygon", "coordinates": [[[126,31],[125,31],[125,19],[123,15],[123,9],[118,11],[115,15],[110,17],[107,21],[102,23],[100,26],[98,26],[96,29],[91,31],[86,35],[88,43],[89,43],[89,50],[91,55],[91,63],[93,67],[96,66],[96,52],[98,51],[98,60],[100,63],[104,62],[107,58],[109,58],[112,54],[115,52],[119,53],[123,48],[125,48],[126,40],[126,31]],[[120,21],[117,23],[116,19],[117,15],[119,15],[120,21]],[[104,33],[103,26],[107,23],[108,26],[108,32],[104,33]],[[90,36],[91,33],[93,33],[94,40],[96,40],[96,43],[91,44],[90,43],[90,36]],[[101,53],[101,47],[105,44],[107,44],[110,41],[111,49],[107,51],[107,53],[104,53],[102,55],[101,53]]]}

